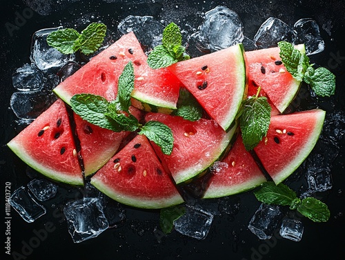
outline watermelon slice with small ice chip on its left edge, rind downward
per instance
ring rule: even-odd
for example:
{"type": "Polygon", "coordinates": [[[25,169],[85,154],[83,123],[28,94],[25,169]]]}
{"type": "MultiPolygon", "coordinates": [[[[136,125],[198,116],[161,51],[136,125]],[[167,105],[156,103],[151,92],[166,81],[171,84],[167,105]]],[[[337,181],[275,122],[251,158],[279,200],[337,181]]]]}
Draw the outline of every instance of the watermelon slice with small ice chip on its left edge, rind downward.
{"type": "Polygon", "coordinates": [[[228,155],[213,165],[205,199],[244,192],[266,181],[239,135],[228,155]]]}

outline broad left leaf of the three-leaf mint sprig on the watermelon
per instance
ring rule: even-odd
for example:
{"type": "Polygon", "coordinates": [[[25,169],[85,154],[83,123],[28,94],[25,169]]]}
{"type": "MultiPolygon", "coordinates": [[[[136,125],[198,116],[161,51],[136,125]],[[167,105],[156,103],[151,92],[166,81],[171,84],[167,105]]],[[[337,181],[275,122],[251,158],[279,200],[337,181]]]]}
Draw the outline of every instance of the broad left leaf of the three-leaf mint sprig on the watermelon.
{"type": "Polygon", "coordinates": [[[75,94],[70,103],[72,110],[89,123],[115,132],[122,131],[119,123],[106,116],[109,102],[103,97],[94,94],[75,94]]]}

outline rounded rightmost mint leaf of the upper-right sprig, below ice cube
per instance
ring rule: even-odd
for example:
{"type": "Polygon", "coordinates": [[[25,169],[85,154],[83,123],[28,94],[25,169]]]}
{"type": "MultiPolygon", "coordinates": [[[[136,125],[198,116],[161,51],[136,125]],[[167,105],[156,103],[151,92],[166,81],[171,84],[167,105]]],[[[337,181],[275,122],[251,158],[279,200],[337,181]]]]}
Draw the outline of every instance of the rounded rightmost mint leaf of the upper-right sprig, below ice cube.
{"type": "Polygon", "coordinates": [[[335,93],[335,75],[326,68],[320,67],[314,70],[308,67],[304,81],[311,86],[317,96],[330,97],[335,93]]]}

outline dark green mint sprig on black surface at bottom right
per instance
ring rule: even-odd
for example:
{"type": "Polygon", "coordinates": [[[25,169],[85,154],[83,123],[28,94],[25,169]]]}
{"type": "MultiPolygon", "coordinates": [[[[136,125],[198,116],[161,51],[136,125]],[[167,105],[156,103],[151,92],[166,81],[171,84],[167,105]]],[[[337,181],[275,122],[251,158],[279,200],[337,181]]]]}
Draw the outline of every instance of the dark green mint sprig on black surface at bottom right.
{"type": "Polygon", "coordinates": [[[299,199],[297,194],[283,183],[276,186],[273,181],[267,181],[262,183],[261,188],[255,190],[254,194],[262,203],[290,206],[291,210],[297,210],[314,222],[326,222],[331,215],[325,203],[313,197],[299,199]]]}

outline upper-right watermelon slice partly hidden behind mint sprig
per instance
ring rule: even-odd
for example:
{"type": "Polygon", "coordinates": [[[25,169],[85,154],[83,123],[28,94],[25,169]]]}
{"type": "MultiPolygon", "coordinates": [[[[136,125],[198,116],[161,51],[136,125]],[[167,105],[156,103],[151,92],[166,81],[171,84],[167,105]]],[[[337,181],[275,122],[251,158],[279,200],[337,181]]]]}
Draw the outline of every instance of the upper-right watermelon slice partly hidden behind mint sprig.
{"type": "MultiPolygon", "coordinates": [[[[301,52],[305,52],[304,44],[295,46],[301,52]]],[[[253,50],[246,52],[248,70],[248,88],[250,93],[256,92],[260,86],[262,95],[266,95],[274,105],[273,114],[284,112],[290,102],[296,96],[301,81],[293,79],[286,71],[279,57],[279,47],[253,50]]]]}

